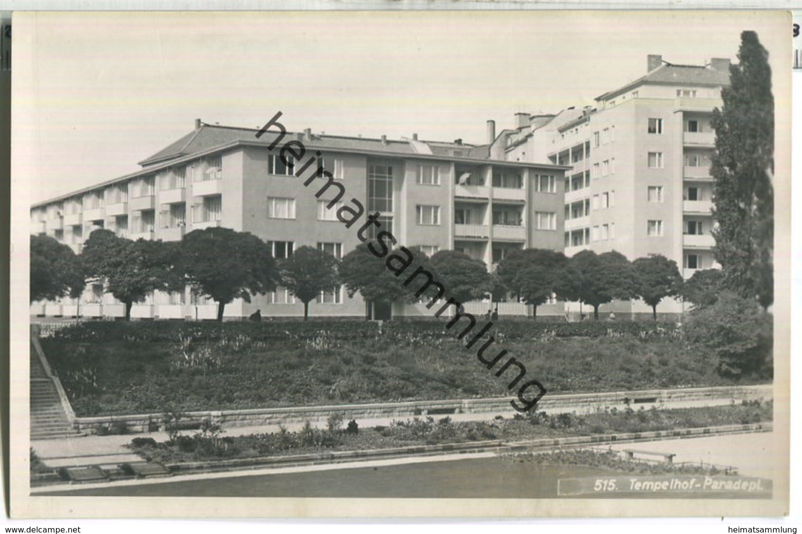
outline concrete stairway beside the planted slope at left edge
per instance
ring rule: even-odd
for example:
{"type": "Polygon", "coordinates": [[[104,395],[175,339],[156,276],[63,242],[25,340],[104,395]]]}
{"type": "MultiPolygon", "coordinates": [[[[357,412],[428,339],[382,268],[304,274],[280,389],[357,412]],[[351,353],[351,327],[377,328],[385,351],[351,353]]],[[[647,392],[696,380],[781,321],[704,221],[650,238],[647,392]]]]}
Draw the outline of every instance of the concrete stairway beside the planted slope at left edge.
{"type": "Polygon", "coordinates": [[[73,430],[53,380],[47,376],[33,347],[30,348],[30,439],[67,438],[73,430]]]}

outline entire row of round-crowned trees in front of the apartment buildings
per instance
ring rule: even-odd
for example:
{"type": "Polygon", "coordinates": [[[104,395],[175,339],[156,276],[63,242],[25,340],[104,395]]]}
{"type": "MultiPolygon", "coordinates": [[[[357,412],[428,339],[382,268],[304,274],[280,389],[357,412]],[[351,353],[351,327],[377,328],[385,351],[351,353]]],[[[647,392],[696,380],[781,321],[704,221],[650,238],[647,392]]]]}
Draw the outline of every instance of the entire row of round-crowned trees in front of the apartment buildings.
{"type": "Polygon", "coordinates": [[[344,284],[350,296],[358,292],[369,302],[434,297],[468,302],[487,296],[499,300],[512,293],[533,305],[536,318],[537,307],[552,296],[591,306],[595,318],[602,304],[640,298],[656,319],[657,306],[667,297],[682,295],[702,305],[715,299],[719,278],[715,271],[702,271],[683,284],[677,264],[662,255],[630,262],[618,252],[582,251],[566,258],[561,252],[524,249],[513,251],[490,273],[483,262],[457,251],[439,251],[429,258],[416,247],[399,247],[384,259],[360,245],[338,260],[316,248],[300,247],[290,258],[275,260],[260,238],[227,228],[195,230],[180,243],[131,241],[110,230],[95,230],[77,256],[53,238],[31,237],[30,300],[76,298],[85,280],[97,279],[125,304],[128,319],[132,305],[152,291],[191,286],[217,301],[217,318],[222,320],[225,305],[234,299],[250,302],[251,296],[282,285],[304,304],[306,319],[310,303],[322,291],[344,284]],[[407,267],[410,271],[402,276],[407,267]],[[409,283],[415,268],[445,291],[438,295],[437,287],[423,277],[420,283],[409,283]]]}

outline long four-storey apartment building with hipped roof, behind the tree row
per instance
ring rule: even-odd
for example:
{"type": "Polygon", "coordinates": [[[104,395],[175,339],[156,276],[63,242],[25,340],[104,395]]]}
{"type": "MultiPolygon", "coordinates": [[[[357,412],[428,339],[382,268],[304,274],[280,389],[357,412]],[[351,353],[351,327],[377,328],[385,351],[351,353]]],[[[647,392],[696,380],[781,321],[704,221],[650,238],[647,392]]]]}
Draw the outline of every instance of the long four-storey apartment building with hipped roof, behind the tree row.
{"type": "MultiPolygon", "coordinates": [[[[311,246],[342,258],[358,243],[354,228],[326,209],[337,188],[319,198],[304,179],[300,162],[286,165],[278,150],[269,150],[279,135],[272,130],[204,124],[160,152],[140,161],[142,167],[102,184],[32,206],[34,234],[47,234],[80,253],[93,230],[106,228],[131,239],[178,241],[185,233],[225,226],[248,231],[286,258],[298,247],[311,246]],[[296,177],[299,173],[303,178],[296,177]]],[[[346,190],[346,198],[362,202],[367,213],[381,213],[379,222],[407,247],[427,255],[440,250],[463,251],[492,268],[510,251],[525,247],[563,249],[563,183],[565,166],[491,158],[490,145],[454,142],[338,137],[304,132],[286,134],[307,150],[346,190]]],[[[281,145],[279,145],[281,146],[281,145]]],[[[322,180],[322,185],[326,184],[322,180]]],[[[373,228],[371,227],[371,230],[373,228]]],[[[470,303],[469,312],[484,313],[488,303],[470,303]]],[[[302,316],[303,307],[283,287],[257,296],[251,303],[225,307],[229,317],[302,316]]],[[[156,291],[135,304],[132,316],[142,319],[213,319],[217,303],[187,290],[156,291]]],[[[393,305],[370,315],[431,316],[421,304],[393,305]]],[[[526,314],[525,304],[502,304],[499,312],[526,314]]],[[[538,313],[562,313],[553,303],[538,313]]],[[[44,316],[124,316],[124,306],[88,284],[82,298],[34,303],[31,313],[44,316]]],[[[343,287],[324,292],[310,305],[312,316],[366,315],[357,295],[343,287]]]]}

